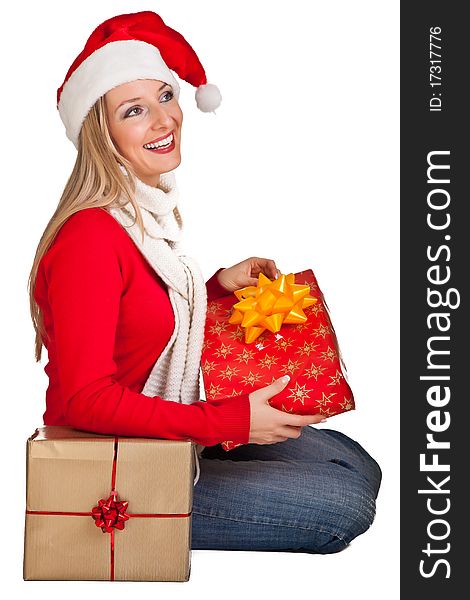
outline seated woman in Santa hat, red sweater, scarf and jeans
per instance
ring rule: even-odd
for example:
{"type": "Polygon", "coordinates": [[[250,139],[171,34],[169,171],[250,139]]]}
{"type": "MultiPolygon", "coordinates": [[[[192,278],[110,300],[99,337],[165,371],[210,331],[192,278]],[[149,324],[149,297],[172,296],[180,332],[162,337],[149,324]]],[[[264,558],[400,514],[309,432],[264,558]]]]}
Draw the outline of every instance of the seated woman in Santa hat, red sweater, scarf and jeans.
{"type": "Polygon", "coordinates": [[[49,355],[44,422],[197,442],[193,548],[337,552],[373,521],[377,463],[339,432],[302,430],[322,415],[272,408],[288,379],[199,400],[207,298],[279,271],[252,257],[205,286],[182,253],[169,67],[201,110],[217,108],[194,50],[149,11],[97,27],[58,90],[78,155],[30,276],[36,359],[42,345],[49,355]],[[224,440],[243,445],[225,452],[224,440]]]}

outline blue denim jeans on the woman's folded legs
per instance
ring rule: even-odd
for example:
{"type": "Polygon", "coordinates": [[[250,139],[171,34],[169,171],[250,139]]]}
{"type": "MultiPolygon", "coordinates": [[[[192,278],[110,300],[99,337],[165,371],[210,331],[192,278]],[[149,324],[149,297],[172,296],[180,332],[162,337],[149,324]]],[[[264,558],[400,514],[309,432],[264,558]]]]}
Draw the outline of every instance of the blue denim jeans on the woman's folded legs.
{"type": "Polygon", "coordinates": [[[357,442],[306,426],[298,439],[206,447],[194,487],[194,550],[327,554],[374,520],[382,473],[357,442]]]}

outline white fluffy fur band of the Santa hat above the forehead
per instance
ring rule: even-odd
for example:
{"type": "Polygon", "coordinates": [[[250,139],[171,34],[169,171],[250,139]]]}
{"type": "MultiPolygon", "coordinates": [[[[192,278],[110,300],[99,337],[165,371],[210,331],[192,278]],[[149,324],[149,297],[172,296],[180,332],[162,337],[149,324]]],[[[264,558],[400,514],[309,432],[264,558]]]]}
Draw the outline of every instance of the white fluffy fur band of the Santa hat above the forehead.
{"type": "Polygon", "coordinates": [[[180,88],[159,50],[146,42],[110,42],[95,50],[72,73],[60,96],[59,114],[67,137],[78,148],[82,123],[93,104],[112,88],[136,79],[156,79],[173,87],[176,99],[180,88]]]}

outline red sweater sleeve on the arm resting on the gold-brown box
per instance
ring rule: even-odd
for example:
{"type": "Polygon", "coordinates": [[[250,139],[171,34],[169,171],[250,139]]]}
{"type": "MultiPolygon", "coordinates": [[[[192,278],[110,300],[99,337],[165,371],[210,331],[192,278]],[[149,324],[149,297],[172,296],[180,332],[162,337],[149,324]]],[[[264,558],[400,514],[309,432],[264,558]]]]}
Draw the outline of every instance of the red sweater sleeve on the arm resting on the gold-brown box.
{"type": "Polygon", "coordinates": [[[68,424],[103,434],[191,439],[205,446],[227,439],[248,443],[248,395],[181,404],[133,392],[116,380],[113,351],[123,280],[112,235],[102,223],[93,225],[65,232],[45,265],[68,424]]]}

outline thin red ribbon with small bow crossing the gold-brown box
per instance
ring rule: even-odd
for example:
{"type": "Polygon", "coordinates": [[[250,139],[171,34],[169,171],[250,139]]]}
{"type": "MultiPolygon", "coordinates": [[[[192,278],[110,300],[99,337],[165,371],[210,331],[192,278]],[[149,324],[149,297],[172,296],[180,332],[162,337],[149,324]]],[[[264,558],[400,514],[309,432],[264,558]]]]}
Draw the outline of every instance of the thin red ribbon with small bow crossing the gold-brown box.
{"type": "Polygon", "coordinates": [[[110,534],[111,564],[110,581],[114,581],[114,534],[115,530],[123,530],[125,522],[131,517],[138,518],[172,518],[189,517],[189,513],[150,513],[150,514],[128,514],[126,513],[129,502],[119,501],[116,492],[116,467],[117,467],[118,438],[114,438],[113,470],[111,474],[111,495],[107,500],[98,500],[98,506],[94,506],[90,512],[54,512],[47,510],[27,510],[27,515],[65,515],[70,517],[93,517],[95,525],[100,527],[103,533],[110,534]]]}

